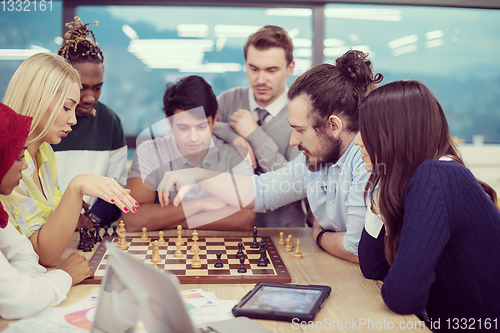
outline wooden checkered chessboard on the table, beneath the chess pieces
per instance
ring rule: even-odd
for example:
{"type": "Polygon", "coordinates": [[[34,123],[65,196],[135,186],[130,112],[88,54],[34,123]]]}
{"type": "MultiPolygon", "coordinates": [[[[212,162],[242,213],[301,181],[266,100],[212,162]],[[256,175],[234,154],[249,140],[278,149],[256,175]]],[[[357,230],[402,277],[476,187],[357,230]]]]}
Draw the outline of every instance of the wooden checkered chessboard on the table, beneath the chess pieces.
{"type": "MultiPolygon", "coordinates": [[[[107,251],[105,242],[109,241],[113,245],[118,246],[118,237],[105,237],[103,242],[99,244],[90,259],[90,267],[95,272],[94,278],[82,281],[83,284],[99,284],[104,276],[107,260],[107,251]]],[[[199,236],[197,242],[200,249],[199,256],[201,259],[201,268],[192,268],[191,261],[193,254],[190,253],[193,241],[186,237],[183,238],[184,245],[181,246],[183,258],[175,258],[176,251],[175,242],[177,237],[165,237],[167,242],[164,246],[159,246],[161,262],[157,264],[157,268],[168,270],[179,278],[181,284],[256,284],[260,281],[272,281],[289,283],[292,278],[274,246],[270,237],[259,237],[264,240],[267,246],[267,256],[270,263],[267,267],[258,267],[257,263],[260,257],[259,249],[251,249],[252,237],[236,237],[236,236],[199,236]],[[246,273],[238,273],[240,260],[236,257],[238,251],[238,243],[243,243],[243,252],[245,254],[246,273]],[[186,255],[187,252],[187,255],[186,255]],[[214,267],[216,254],[222,254],[222,268],[214,267]]],[[[145,265],[154,266],[151,263],[151,253],[153,245],[151,242],[141,241],[141,236],[126,236],[127,249],[124,250],[135,258],[144,262],[145,265]]]]}

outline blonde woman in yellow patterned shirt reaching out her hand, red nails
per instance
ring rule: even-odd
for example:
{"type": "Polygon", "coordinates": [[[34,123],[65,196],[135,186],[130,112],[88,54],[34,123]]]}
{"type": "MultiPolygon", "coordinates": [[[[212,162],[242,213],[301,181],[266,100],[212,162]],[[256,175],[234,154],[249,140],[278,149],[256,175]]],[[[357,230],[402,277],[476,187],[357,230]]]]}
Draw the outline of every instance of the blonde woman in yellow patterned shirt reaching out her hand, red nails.
{"type": "Polygon", "coordinates": [[[59,191],[50,144],[59,143],[76,124],[80,86],[78,72],[65,59],[40,53],[19,66],[5,93],[4,104],[33,122],[25,151],[28,168],[20,185],[0,201],[9,221],[30,239],[45,266],[59,262],[78,222],[83,195],[99,197],[125,213],[138,206],[128,190],[102,176],[79,175],[64,195],[59,191]]]}

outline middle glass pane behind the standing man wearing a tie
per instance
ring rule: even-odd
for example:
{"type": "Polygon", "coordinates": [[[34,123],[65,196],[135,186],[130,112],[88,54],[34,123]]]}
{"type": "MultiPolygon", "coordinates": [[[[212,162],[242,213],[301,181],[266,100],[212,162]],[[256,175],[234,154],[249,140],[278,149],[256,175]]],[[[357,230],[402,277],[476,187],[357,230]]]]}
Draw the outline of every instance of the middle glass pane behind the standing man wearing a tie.
{"type": "Polygon", "coordinates": [[[264,25],[293,37],[296,74],[311,65],[310,9],[81,6],[77,14],[84,23],[99,20],[91,29],[105,57],[101,99],[120,114],[127,135],[163,117],[168,82],[200,75],[216,95],[247,86],[243,45],[264,25]]]}

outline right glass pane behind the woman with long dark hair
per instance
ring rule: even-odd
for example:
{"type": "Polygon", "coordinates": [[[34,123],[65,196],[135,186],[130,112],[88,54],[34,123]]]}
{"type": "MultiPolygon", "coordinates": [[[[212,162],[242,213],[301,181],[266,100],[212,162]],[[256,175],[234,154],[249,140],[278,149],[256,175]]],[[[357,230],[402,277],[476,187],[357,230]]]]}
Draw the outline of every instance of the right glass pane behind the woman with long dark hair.
{"type": "Polygon", "coordinates": [[[500,10],[330,4],[325,30],[326,62],[368,52],[382,84],[424,82],[452,135],[500,142],[500,10]]]}

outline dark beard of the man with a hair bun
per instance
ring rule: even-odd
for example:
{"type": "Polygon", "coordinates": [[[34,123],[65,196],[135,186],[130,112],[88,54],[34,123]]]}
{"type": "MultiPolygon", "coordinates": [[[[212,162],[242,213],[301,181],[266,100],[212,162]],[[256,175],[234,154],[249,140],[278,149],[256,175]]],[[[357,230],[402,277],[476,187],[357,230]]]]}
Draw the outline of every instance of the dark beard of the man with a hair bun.
{"type": "Polygon", "coordinates": [[[321,136],[320,149],[317,153],[312,154],[310,151],[299,145],[300,151],[306,156],[306,165],[309,171],[318,171],[323,168],[328,168],[330,165],[337,163],[340,158],[340,146],[342,140],[336,138],[327,138],[321,136]]]}

